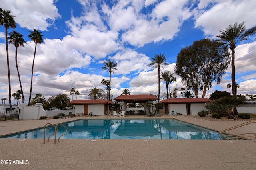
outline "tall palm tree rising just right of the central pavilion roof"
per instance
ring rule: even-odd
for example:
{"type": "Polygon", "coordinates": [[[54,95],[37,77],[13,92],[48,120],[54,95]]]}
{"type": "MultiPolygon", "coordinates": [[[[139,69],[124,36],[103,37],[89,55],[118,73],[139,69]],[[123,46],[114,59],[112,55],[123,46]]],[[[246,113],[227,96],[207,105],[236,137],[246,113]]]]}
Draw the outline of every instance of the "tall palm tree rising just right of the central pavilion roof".
{"type": "MultiPolygon", "coordinates": [[[[153,66],[158,69],[158,102],[160,101],[160,67],[164,68],[162,65],[168,65],[168,63],[164,63],[166,61],[166,56],[163,54],[158,55],[155,54],[154,58],[151,58],[152,61],[148,66],[153,66]]],[[[158,108],[159,109],[159,108],[158,108]]]]}

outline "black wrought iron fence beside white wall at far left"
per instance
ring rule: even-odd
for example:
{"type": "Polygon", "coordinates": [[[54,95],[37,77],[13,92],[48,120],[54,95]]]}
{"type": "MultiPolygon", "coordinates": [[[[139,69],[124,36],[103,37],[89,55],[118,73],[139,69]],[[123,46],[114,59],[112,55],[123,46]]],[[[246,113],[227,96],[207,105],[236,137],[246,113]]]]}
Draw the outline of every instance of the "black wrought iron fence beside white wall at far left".
{"type": "Polygon", "coordinates": [[[0,121],[16,120],[20,115],[20,109],[0,109],[0,121]]]}

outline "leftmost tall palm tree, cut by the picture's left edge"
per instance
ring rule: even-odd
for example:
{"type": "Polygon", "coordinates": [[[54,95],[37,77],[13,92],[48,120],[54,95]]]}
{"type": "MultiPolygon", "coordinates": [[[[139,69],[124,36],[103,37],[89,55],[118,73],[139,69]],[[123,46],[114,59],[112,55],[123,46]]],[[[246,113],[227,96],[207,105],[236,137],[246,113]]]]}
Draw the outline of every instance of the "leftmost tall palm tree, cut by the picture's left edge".
{"type": "Polygon", "coordinates": [[[8,51],[8,29],[16,28],[16,22],[14,16],[10,15],[11,11],[3,10],[0,8],[0,25],[5,28],[5,44],[6,44],[6,55],[7,55],[7,70],[8,70],[8,82],[9,82],[9,107],[12,109],[11,101],[11,76],[10,76],[10,65],[9,65],[9,51],[8,51]]]}

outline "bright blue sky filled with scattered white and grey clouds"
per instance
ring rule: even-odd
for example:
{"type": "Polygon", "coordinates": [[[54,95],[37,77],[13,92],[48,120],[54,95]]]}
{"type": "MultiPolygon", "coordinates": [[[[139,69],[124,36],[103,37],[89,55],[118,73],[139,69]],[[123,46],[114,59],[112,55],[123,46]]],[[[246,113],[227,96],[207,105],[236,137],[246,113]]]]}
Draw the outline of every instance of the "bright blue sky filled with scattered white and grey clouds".
{"type": "MultiPolygon", "coordinates": [[[[101,80],[109,78],[109,73],[100,69],[105,59],[119,63],[111,78],[113,97],[124,88],[131,94],[158,94],[157,70],[147,66],[155,54],[167,57],[169,65],[161,71],[174,73],[180,49],[193,41],[215,39],[219,30],[234,22],[245,21],[247,28],[256,24],[255,0],[2,0],[0,7],[16,16],[14,30],[27,42],[18,48],[25,101],[35,47],[28,35],[34,28],[42,31],[44,42],[37,48],[32,96],[69,95],[74,87],[80,92],[78,99],[88,99],[89,89],[103,88],[101,80]]],[[[0,27],[0,98],[8,98],[4,31],[0,27]]],[[[255,37],[237,44],[238,94],[256,94],[255,51],[255,37]]],[[[14,93],[20,87],[13,45],[9,45],[9,55],[14,93]]],[[[219,85],[213,83],[207,90],[206,98],[215,90],[229,91],[230,74],[231,67],[219,85]]],[[[180,90],[184,86],[176,78],[174,85],[180,90]]],[[[160,94],[165,93],[164,82],[160,86],[160,94]]]]}

